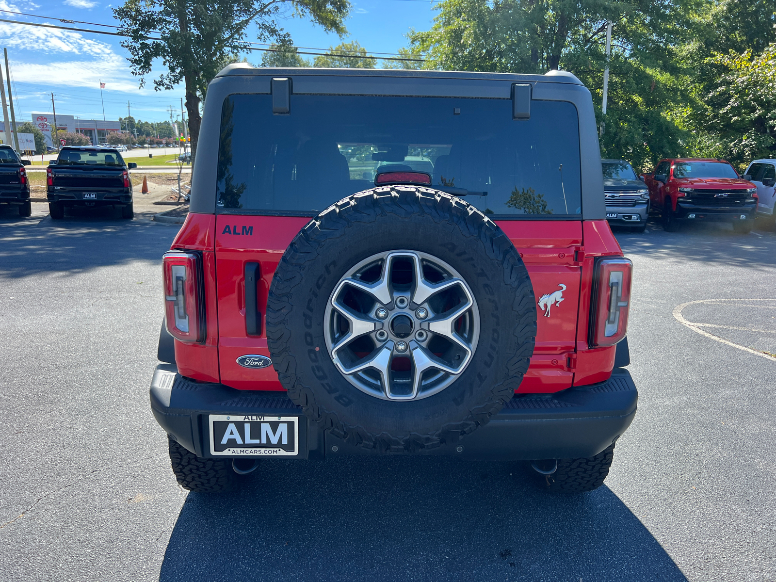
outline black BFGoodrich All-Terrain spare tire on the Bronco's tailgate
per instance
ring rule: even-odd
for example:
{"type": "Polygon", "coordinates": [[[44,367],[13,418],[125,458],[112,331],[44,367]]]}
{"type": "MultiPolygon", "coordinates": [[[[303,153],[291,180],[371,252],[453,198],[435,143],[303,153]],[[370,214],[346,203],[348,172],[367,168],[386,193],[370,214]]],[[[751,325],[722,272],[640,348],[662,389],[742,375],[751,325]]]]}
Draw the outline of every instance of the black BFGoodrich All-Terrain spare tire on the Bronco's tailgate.
{"type": "MultiPolygon", "coordinates": [[[[380,265],[379,260],[376,265],[380,265]]],[[[422,268],[428,264],[423,263],[422,268]]],[[[369,303],[369,297],[366,301],[369,303]]],[[[363,320],[376,321],[368,314],[376,314],[381,303],[375,301],[374,305],[366,306],[363,320]]],[[[442,310],[428,309],[431,314],[442,310]]],[[[455,333],[460,321],[452,323],[455,333]]],[[[380,325],[379,321],[376,325],[380,325]]],[[[533,289],[525,265],[509,238],[483,213],[461,199],[420,187],[372,189],[324,210],[286,249],[269,291],[268,346],[289,397],[332,435],[376,452],[417,452],[450,445],[486,424],[520,385],[533,353],[535,332],[533,289]],[[447,384],[440,384],[441,389],[403,401],[369,393],[363,386],[359,387],[360,380],[354,379],[355,375],[342,372],[341,362],[333,355],[340,352],[332,351],[331,331],[324,330],[327,326],[331,330],[331,319],[327,317],[337,297],[335,289],[339,293],[338,289],[352,282],[353,277],[361,276],[352,275],[358,265],[384,256],[387,258],[383,266],[376,267],[376,273],[386,281],[390,279],[393,299],[384,302],[386,327],[378,331],[385,329],[399,335],[383,339],[382,345],[376,341],[372,347],[358,348],[356,352],[363,353],[354,357],[373,358],[366,354],[383,353],[379,350],[393,354],[399,349],[400,338],[407,337],[407,353],[412,357],[411,371],[407,373],[413,376],[413,370],[421,369],[417,367],[420,356],[416,357],[421,353],[419,337],[428,341],[425,353],[444,352],[445,348],[431,348],[427,335],[418,335],[421,325],[431,326],[430,322],[437,316],[429,317],[428,323],[417,318],[414,324],[411,321],[424,306],[431,305],[431,300],[414,303],[415,298],[420,298],[417,289],[421,283],[417,278],[423,285],[427,284],[425,271],[407,275],[410,277],[407,281],[411,281],[408,285],[414,290],[407,292],[406,299],[401,299],[396,295],[399,275],[386,274],[393,268],[389,264],[399,264],[390,263],[398,260],[390,258],[394,256],[391,251],[407,258],[407,272],[412,265],[421,265],[426,260],[428,264],[443,265],[442,271],[449,272],[450,281],[458,282],[461,293],[471,296],[473,306],[469,319],[472,324],[467,324],[469,331],[460,332],[473,346],[463,360],[466,365],[450,375],[447,384]],[[413,262],[416,259],[417,263],[413,262]],[[400,310],[403,303],[404,331],[410,334],[407,336],[401,335],[404,331],[400,326],[391,323],[398,320],[394,311],[400,310]],[[369,352],[370,349],[373,351],[369,352]]],[[[385,373],[378,377],[377,385],[393,386],[393,380],[383,379],[393,378],[394,369],[393,364],[383,366],[385,373]]],[[[437,372],[429,373],[433,376],[437,372]]],[[[428,382],[415,378],[408,380],[414,382],[412,386],[428,382]]],[[[388,392],[390,389],[386,388],[388,392]]]]}

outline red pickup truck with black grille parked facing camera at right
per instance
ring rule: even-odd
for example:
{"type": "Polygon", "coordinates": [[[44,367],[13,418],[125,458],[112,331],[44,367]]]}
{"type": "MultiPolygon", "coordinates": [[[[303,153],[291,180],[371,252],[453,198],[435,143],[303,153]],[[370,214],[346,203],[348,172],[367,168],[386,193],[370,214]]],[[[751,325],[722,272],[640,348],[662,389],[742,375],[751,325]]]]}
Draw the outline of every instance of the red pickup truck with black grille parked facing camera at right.
{"type": "Polygon", "coordinates": [[[728,161],[666,158],[641,177],[669,232],[695,220],[731,221],[733,230],[742,234],[752,230],[757,186],[749,182],[750,176],[739,176],[728,161]]]}

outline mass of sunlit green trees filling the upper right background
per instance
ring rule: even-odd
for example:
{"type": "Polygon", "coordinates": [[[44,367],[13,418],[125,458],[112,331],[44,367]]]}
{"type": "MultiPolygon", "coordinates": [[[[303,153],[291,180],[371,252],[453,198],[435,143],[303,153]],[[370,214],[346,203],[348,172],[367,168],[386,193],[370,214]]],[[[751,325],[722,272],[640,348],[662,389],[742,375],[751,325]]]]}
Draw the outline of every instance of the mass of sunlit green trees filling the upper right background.
{"type": "Polygon", "coordinates": [[[409,35],[424,68],[570,71],[593,94],[607,157],[649,168],[666,156],[743,164],[776,150],[776,0],[442,0],[436,9],[430,30],[409,35]]]}

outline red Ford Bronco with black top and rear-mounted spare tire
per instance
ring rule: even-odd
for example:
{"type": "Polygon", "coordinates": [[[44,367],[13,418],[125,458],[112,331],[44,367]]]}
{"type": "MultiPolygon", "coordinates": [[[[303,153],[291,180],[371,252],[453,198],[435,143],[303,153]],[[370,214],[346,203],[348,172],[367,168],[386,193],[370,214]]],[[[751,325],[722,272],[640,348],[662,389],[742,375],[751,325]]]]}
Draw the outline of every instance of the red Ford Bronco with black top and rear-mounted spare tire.
{"type": "Polygon", "coordinates": [[[230,65],[190,210],[151,383],[183,487],[363,454],[603,483],[636,414],[632,266],[572,74],[230,65]]]}

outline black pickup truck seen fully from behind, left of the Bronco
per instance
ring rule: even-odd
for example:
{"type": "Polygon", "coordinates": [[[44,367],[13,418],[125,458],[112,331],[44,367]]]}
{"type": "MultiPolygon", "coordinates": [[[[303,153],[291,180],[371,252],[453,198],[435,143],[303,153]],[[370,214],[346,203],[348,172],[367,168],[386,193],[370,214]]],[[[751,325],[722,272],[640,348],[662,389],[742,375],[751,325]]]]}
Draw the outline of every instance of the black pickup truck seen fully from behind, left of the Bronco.
{"type": "Polygon", "coordinates": [[[71,206],[114,206],[132,218],[132,181],[127,164],[112,147],[63,147],[46,171],[51,218],[64,218],[71,206]]]}

